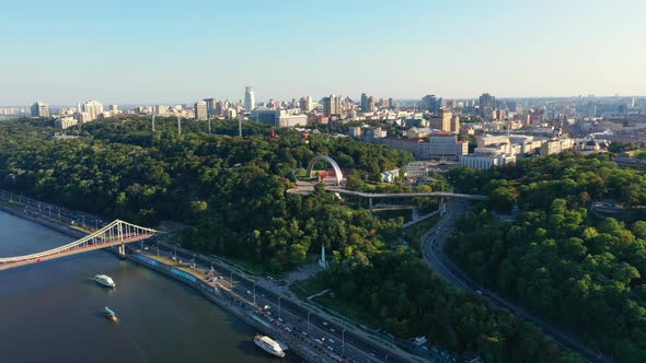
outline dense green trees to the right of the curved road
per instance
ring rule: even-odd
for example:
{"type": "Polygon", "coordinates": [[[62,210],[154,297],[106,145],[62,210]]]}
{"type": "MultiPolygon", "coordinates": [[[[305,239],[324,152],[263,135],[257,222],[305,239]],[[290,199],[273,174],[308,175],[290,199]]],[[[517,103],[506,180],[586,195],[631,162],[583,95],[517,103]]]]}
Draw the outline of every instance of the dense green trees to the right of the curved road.
{"type": "Polygon", "coordinates": [[[557,323],[622,362],[646,362],[646,203],[644,172],[620,169],[608,155],[565,153],[492,171],[455,168],[462,191],[492,197],[517,221],[496,222],[486,206],[469,213],[448,244],[470,274],[557,323]],[[637,212],[614,218],[592,201],[637,212]],[[621,221],[622,216],[628,216],[621,221]]]}

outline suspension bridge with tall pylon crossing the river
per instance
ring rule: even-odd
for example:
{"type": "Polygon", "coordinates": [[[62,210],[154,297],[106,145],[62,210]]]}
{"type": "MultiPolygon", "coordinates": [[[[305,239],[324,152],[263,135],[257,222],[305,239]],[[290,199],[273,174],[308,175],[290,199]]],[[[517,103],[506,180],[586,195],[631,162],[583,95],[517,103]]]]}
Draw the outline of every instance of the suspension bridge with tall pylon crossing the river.
{"type": "Polygon", "coordinates": [[[150,238],[157,233],[157,231],[151,229],[115,220],[103,229],[65,246],[31,255],[0,257],[0,270],[114,246],[119,246],[119,254],[125,256],[125,244],[150,238]]]}

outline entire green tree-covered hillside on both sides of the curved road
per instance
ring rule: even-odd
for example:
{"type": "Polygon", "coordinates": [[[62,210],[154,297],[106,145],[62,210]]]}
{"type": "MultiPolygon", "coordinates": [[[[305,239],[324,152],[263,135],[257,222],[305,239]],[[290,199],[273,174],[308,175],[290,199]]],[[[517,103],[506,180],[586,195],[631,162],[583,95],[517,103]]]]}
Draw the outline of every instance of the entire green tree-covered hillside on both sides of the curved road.
{"type": "MultiPolygon", "coordinates": [[[[149,120],[129,117],[69,129],[77,138],[68,139],[53,139],[48,122],[0,124],[0,188],[104,218],[151,226],[162,220],[181,222],[188,226],[178,239],[185,247],[267,271],[311,262],[325,246],[331,266],[309,283],[332,288],[334,307],[344,314],[397,337],[427,336],[446,349],[478,352],[487,362],[580,362],[537,327],[439,279],[420,258],[418,245],[401,243],[401,215],[371,218],[323,186],[310,196],[286,194],[295,185],[295,171],[321,154],[351,171],[354,189],[405,190],[411,187],[372,183],[381,172],[412,161],[406,152],[325,132],[304,142],[299,132],[280,130],[275,139],[268,127],[254,122],[245,122],[240,138],[232,121],[214,122],[212,133],[205,122],[185,122],[177,134],[173,118],[158,118],[151,132],[149,120]]],[[[601,306],[624,317],[613,327],[608,326],[610,316],[592,317],[613,329],[612,338],[584,315],[572,321],[573,331],[602,349],[614,348],[615,354],[641,353],[639,224],[596,221],[586,213],[599,192],[624,200],[621,182],[612,176],[621,171],[603,160],[562,157],[519,163],[517,169],[451,172],[448,182],[458,190],[492,196],[491,206],[477,204],[464,219],[451,253],[484,283],[564,325],[566,308],[593,312],[601,306]],[[604,168],[611,175],[591,175],[604,168]],[[584,169],[593,172],[582,177],[584,169]],[[557,187],[564,175],[573,183],[557,187]],[[517,202],[521,219],[496,224],[492,208],[507,212],[517,202]],[[512,229],[524,230],[505,232],[512,229]],[[506,266],[504,273],[497,265],[506,266]],[[570,285],[563,285],[566,281],[570,285]],[[587,290],[573,295],[570,288],[579,284],[587,290]],[[540,294],[539,304],[534,297],[540,294]],[[570,305],[557,309],[564,298],[570,305]]],[[[435,178],[417,188],[451,188],[441,176],[435,178]]],[[[634,200],[641,203],[638,197],[634,200]]]]}

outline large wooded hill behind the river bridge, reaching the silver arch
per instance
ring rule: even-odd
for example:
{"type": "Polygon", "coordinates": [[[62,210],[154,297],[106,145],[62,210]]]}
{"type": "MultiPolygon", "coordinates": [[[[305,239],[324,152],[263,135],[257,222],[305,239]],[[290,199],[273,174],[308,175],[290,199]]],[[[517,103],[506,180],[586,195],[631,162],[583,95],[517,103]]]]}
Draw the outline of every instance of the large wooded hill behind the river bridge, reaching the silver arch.
{"type": "MultiPolygon", "coordinates": [[[[0,187],[41,200],[108,218],[155,224],[168,219],[192,225],[183,244],[284,270],[304,261],[308,250],[328,249],[364,237],[392,234],[401,219],[371,222],[337,203],[315,198],[285,198],[293,171],[318,154],[332,155],[360,179],[412,160],[411,154],[351,139],[319,134],[309,143],[300,133],[268,138],[267,126],[183,122],[175,119],[114,119],[72,129],[80,138],[50,140],[44,121],[4,122],[0,127],[0,187]],[[378,225],[379,224],[379,225],[378,225]],[[312,249],[313,248],[313,249],[312,249]]],[[[321,165],[327,168],[328,165],[321,165]]]]}

